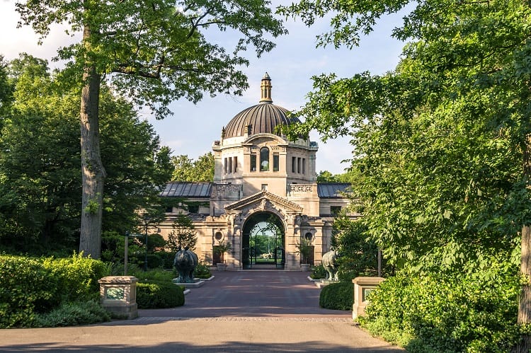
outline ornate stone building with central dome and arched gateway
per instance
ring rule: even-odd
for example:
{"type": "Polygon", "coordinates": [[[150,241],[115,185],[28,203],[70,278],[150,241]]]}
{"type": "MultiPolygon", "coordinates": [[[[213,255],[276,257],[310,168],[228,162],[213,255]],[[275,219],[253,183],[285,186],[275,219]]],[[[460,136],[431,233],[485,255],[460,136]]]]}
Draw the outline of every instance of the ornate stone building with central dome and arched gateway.
{"type": "Polygon", "coordinates": [[[216,247],[231,244],[224,254],[228,270],[300,270],[301,243],[309,245],[307,262],[318,264],[330,248],[334,214],[349,203],[350,185],[316,183],[315,141],[288,141],[275,130],[300,121],[273,104],[271,88],[266,73],[260,102],[233,117],[212,144],[213,183],[171,182],[161,193],[176,200],[162,235],[177,214],[188,214],[200,259],[214,265],[216,247]]]}

